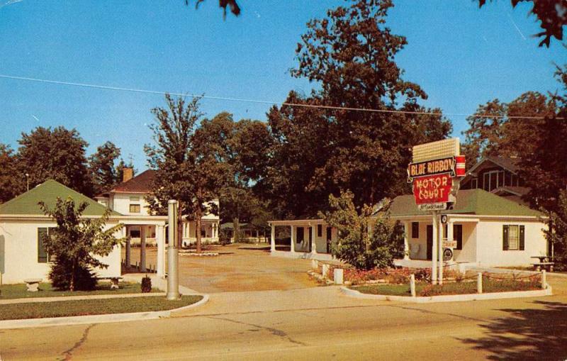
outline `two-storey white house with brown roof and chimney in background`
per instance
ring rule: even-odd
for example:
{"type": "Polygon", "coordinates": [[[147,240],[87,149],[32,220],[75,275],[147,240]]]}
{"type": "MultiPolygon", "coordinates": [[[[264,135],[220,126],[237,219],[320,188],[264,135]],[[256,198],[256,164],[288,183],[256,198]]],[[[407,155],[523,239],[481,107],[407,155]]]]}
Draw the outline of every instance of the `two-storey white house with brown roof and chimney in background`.
{"type": "MultiPolygon", "coordinates": [[[[152,196],[152,182],[155,178],[154,170],[146,170],[133,177],[132,168],[124,168],[123,182],[110,191],[99,194],[95,199],[99,204],[108,206],[113,211],[128,216],[147,216],[151,214],[146,201],[152,196]]],[[[217,208],[218,200],[213,201],[217,208]]],[[[218,243],[219,217],[213,213],[206,213],[201,218],[201,239],[203,243],[218,243]]],[[[152,225],[128,227],[127,235],[133,243],[140,243],[142,235],[147,243],[155,243],[156,228],[152,225]]],[[[195,221],[184,221],[184,245],[196,242],[195,221]]]]}

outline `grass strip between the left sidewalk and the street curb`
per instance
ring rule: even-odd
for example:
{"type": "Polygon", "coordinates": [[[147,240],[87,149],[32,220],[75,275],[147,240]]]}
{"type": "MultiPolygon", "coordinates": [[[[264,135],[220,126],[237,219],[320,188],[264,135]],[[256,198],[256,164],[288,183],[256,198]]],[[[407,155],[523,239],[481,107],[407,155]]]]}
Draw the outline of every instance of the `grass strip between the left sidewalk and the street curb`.
{"type": "Polygon", "coordinates": [[[165,296],[146,296],[4,304],[0,306],[0,320],[166,311],[194,304],[201,299],[203,299],[203,296],[182,296],[179,301],[168,301],[165,296]]]}

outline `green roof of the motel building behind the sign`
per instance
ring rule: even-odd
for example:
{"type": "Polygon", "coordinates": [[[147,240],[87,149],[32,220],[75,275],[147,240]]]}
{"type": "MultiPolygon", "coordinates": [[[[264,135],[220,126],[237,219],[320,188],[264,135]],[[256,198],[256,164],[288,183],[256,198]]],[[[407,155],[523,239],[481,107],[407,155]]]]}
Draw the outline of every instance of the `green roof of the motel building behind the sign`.
{"type": "MultiPolygon", "coordinates": [[[[391,216],[426,216],[429,212],[417,209],[413,195],[397,196],[391,206],[391,216]]],[[[539,211],[515,201],[492,194],[484,189],[458,191],[454,209],[443,213],[476,214],[477,216],[544,216],[539,211]]]]}

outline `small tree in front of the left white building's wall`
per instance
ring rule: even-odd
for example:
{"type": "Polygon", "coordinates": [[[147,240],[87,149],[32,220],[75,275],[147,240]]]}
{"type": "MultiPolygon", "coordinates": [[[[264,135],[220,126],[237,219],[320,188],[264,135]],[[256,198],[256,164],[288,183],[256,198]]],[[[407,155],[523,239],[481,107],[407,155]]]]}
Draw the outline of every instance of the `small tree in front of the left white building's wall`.
{"type": "Polygon", "coordinates": [[[69,291],[94,289],[96,278],[93,268],[108,267],[95,256],[109,255],[113,247],[122,241],[114,237],[114,233],[123,225],[104,230],[109,209],[100,218],[82,218],[88,204],[81,202],[75,207],[71,198],[63,201],[57,197],[53,209],[43,201],[39,205],[45,215],[57,222],[57,228],[43,236],[45,250],[55,258],[49,274],[53,287],[69,291]]]}

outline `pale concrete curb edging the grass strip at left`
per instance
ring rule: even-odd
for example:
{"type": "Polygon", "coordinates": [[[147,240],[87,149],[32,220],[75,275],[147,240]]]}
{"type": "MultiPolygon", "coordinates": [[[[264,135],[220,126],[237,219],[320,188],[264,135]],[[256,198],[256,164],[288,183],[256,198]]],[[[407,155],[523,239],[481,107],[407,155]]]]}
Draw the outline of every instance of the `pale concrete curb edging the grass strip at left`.
{"type": "Polygon", "coordinates": [[[142,320],[153,320],[157,318],[165,318],[172,316],[172,313],[174,312],[194,309],[208,302],[209,299],[208,294],[202,294],[198,296],[203,296],[203,298],[194,304],[179,307],[179,309],[171,309],[167,311],[150,311],[150,312],[111,313],[106,315],[6,320],[6,321],[0,321],[0,330],[10,329],[10,328],[35,328],[35,327],[50,327],[50,326],[84,325],[89,323],[142,321],[142,320]]]}

